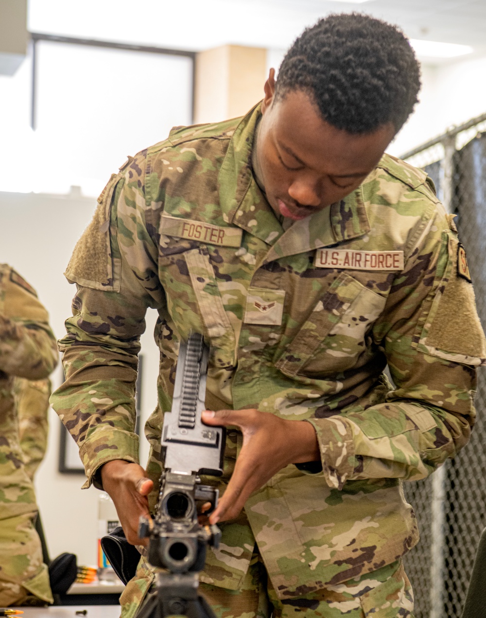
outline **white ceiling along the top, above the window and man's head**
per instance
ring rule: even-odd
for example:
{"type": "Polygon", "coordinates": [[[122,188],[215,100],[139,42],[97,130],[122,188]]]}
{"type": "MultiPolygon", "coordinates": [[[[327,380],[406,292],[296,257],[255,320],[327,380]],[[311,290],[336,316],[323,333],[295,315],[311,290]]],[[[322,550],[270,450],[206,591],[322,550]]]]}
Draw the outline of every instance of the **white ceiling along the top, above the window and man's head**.
{"type": "Polygon", "coordinates": [[[352,11],[396,23],[410,38],[486,53],[486,0],[30,0],[29,28],[195,51],[224,43],[284,49],[319,17],[352,11]]]}

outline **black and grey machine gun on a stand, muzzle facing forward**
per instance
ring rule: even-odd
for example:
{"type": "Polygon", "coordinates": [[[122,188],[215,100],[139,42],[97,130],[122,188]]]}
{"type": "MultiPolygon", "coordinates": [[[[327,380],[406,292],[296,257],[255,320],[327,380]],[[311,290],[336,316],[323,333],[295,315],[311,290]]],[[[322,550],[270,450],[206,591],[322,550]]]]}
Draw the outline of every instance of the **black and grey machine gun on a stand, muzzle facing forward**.
{"type": "Polygon", "coordinates": [[[221,531],[200,525],[198,506],[216,508],[218,489],[201,485],[200,474],[223,474],[224,429],[203,425],[208,347],[200,334],[181,342],[171,412],[164,414],[162,446],[164,472],[154,519],[140,518],[139,536],[149,538],[148,562],[161,567],[156,590],[137,618],[214,618],[211,607],[198,595],[198,573],[208,546],[218,548],[221,531]]]}

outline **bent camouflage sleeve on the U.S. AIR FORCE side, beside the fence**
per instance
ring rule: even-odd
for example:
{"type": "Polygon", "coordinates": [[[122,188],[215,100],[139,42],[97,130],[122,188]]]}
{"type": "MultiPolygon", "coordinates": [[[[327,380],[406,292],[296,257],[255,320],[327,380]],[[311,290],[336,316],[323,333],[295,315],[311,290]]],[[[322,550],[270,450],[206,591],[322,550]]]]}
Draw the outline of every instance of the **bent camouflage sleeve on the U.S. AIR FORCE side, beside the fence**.
{"type": "Polygon", "coordinates": [[[474,425],[485,337],[463,247],[440,205],[409,255],[370,333],[395,388],[366,410],[310,419],[332,487],[425,478],[456,455],[474,425]]]}

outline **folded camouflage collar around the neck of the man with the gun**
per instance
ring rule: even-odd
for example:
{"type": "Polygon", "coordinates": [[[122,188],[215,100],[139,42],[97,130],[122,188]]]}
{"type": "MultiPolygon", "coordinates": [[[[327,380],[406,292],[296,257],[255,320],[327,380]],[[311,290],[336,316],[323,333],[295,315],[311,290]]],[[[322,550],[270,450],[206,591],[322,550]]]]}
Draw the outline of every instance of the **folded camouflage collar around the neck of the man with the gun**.
{"type": "Polygon", "coordinates": [[[339,203],[296,221],[284,232],[252,172],[255,128],[262,116],[258,103],[236,127],[218,175],[220,205],[230,224],[273,245],[265,261],[351,240],[370,231],[362,186],[339,203]]]}

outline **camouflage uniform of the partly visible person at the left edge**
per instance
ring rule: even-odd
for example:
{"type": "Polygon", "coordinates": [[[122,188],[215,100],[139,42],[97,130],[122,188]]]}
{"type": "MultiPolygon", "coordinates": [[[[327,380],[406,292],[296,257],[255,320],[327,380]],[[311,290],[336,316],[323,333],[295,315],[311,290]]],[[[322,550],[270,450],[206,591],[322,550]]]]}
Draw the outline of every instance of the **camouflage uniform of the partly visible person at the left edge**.
{"type": "Polygon", "coordinates": [[[15,408],[15,376],[45,379],[58,361],[48,313],[14,269],[0,265],[0,605],[30,595],[52,603],[47,567],[34,528],[32,479],[24,465],[15,408]]]}

